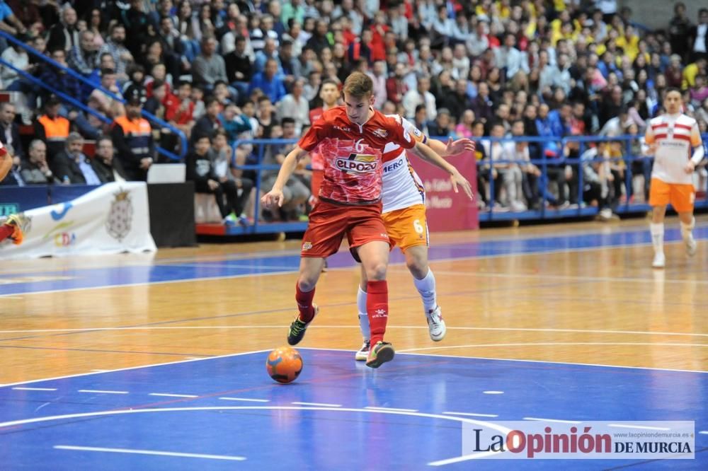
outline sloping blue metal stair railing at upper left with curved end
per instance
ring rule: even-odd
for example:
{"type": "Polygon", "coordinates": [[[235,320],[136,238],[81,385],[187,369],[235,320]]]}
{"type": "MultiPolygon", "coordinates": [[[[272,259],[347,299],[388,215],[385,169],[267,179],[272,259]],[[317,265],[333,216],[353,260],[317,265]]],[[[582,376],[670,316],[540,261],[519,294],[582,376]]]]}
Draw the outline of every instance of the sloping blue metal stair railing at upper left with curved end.
{"type": "MultiPolygon", "coordinates": [[[[78,72],[74,71],[73,69],[69,67],[65,67],[62,64],[59,64],[59,62],[55,61],[51,57],[45,56],[45,54],[42,54],[38,50],[36,50],[34,47],[31,47],[29,45],[26,45],[24,42],[17,40],[15,37],[12,35],[5,33],[4,31],[0,31],[0,37],[4,37],[5,40],[11,42],[14,45],[18,45],[19,47],[22,47],[24,50],[26,50],[30,54],[34,54],[36,57],[39,57],[42,59],[43,62],[46,62],[47,64],[51,64],[52,66],[57,67],[57,69],[62,69],[63,71],[67,72],[70,76],[74,77],[74,79],[80,81],[81,83],[85,83],[86,85],[91,86],[92,88],[98,88],[101,92],[105,93],[105,95],[108,95],[110,98],[113,98],[113,100],[116,100],[120,103],[125,103],[125,100],[118,96],[115,95],[115,93],[106,90],[101,86],[101,83],[98,82],[93,82],[90,81],[89,79],[86,79],[83,75],[79,74],[78,72]]],[[[62,100],[66,101],[67,103],[71,103],[75,107],[78,107],[81,110],[84,110],[85,112],[90,113],[93,116],[96,116],[99,120],[110,124],[113,122],[113,120],[110,120],[110,118],[105,117],[105,115],[102,115],[101,113],[97,112],[96,110],[91,109],[90,107],[86,106],[84,103],[81,103],[79,100],[76,100],[76,98],[73,98],[66,93],[62,93],[61,91],[58,91],[56,88],[51,86],[48,83],[42,82],[40,79],[37,79],[35,76],[32,76],[31,74],[28,74],[25,71],[22,71],[18,69],[16,66],[13,64],[10,64],[2,59],[0,59],[0,64],[13,69],[13,71],[16,71],[19,75],[21,75],[24,79],[27,79],[31,83],[40,86],[42,88],[45,88],[45,90],[50,91],[51,93],[55,93],[59,98],[62,98],[62,100]]],[[[174,127],[172,124],[169,124],[169,122],[166,122],[164,120],[161,120],[159,117],[156,117],[150,112],[147,112],[145,110],[142,110],[142,116],[145,117],[147,120],[154,122],[156,124],[159,124],[160,127],[166,127],[167,129],[170,129],[171,132],[176,134],[180,140],[180,151],[178,154],[175,154],[171,151],[168,151],[167,149],[163,149],[159,146],[156,146],[156,150],[161,153],[162,155],[171,158],[172,160],[181,160],[184,158],[184,156],[187,154],[188,150],[188,141],[187,141],[187,136],[178,128],[174,127]]]]}

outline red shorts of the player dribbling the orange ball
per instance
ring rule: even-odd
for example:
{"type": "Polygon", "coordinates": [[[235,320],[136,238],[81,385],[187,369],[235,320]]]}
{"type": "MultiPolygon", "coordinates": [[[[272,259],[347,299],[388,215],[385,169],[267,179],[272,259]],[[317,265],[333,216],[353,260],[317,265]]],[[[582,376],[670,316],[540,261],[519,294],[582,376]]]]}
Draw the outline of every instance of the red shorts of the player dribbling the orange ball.
{"type": "Polygon", "coordinates": [[[389,243],[381,220],[381,203],[347,206],[319,200],[309,215],[300,255],[329,257],[339,251],[345,234],[349,250],[374,240],[389,243]]]}

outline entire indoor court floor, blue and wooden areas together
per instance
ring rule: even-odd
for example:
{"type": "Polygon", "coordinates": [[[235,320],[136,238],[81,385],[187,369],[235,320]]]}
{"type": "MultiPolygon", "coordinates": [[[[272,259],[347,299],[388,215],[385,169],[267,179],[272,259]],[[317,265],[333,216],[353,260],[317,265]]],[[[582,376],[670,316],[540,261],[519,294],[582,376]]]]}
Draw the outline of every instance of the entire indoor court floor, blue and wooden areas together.
{"type": "MultiPolygon", "coordinates": [[[[0,469],[708,469],[708,217],[434,233],[447,337],[401,254],[394,361],[354,361],[358,267],[317,286],[302,374],[265,357],[295,315],[299,240],[0,264],[0,469]],[[695,421],[695,460],[485,460],[462,426],[695,421]]],[[[580,425],[579,425],[580,426],[580,425]]]]}

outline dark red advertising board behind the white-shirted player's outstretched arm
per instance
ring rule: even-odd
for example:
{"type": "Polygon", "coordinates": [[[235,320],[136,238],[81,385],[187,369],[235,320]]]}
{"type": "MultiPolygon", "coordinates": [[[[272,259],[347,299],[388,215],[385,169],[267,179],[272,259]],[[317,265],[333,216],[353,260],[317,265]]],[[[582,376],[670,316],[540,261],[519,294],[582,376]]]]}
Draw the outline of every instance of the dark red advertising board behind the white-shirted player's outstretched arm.
{"type": "MultiPolygon", "coordinates": [[[[421,161],[416,156],[409,156],[409,160],[426,188],[426,209],[430,232],[464,231],[479,228],[476,201],[470,201],[467,194],[464,194],[459,188],[459,192],[455,193],[455,190],[452,190],[450,175],[430,163],[421,161]]],[[[469,180],[476,198],[477,178],[474,153],[462,153],[459,156],[446,158],[446,160],[455,165],[459,173],[469,180]]]]}

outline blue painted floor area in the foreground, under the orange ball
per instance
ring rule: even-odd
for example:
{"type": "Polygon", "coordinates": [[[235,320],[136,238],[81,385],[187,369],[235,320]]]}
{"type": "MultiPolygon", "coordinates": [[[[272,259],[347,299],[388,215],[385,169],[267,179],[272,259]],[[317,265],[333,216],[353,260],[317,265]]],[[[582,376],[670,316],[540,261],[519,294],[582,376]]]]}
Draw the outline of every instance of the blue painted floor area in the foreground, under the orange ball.
{"type": "Polygon", "coordinates": [[[5,385],[2,469],[708,469],[708,373],[299,349],[280,385],[266,351],[5,385]],[[692,420],[695,460],[464,460],[462,421],[692,420]]]}

